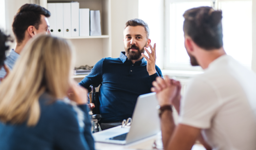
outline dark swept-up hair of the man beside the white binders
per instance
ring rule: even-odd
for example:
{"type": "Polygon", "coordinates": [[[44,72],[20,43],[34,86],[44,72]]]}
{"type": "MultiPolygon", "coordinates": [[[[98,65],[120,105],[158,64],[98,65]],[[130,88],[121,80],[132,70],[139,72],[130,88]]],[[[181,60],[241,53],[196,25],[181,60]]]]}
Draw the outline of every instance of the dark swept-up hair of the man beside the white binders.
{"type": "Polygon", "coordinates": [[[13,21],[13,32],[18,43],[23,41],[25,31],[30,25],[38,30],[39,25],[41,24],[41,15],[49,17],[51,13],[47,9],[36,4],[25,4],[19,8],[13,21]]]}

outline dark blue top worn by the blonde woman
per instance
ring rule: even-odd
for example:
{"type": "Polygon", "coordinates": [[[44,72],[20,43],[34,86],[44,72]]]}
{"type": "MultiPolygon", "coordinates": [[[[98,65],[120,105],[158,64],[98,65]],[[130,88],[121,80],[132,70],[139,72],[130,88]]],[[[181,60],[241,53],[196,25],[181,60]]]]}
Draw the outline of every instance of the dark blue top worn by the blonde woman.
{"type": "Polygon", "coordinates": [[[52,99],[46,93],[39,98],[40,119],[34,127],[0,122],[0,150],[94,150],[87,105],[52,99]]]}

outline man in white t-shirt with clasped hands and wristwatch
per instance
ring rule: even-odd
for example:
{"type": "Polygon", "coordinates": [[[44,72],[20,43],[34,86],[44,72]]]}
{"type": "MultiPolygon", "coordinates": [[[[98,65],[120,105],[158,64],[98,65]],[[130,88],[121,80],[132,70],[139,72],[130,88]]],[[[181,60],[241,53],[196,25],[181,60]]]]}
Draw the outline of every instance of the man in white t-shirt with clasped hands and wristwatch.
{"type": "Polygon", "coordinates": [[[190,150],[199,140],[207,150],[255,150],[256,75],[225,53],[221,11],[199,7],[183,16],[191,64],[205,72],[191,81],[181,101],[178,81],[165,76],[153,82],[164,149],[190,150]],[[177,126],[171,105],[180,115],[177,126]]]}

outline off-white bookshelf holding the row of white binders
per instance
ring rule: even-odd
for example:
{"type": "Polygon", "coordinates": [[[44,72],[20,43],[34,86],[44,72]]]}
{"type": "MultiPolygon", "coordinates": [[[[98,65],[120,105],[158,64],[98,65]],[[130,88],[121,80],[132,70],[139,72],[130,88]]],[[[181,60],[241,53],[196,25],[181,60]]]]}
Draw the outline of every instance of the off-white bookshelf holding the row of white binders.
{"type": "MultiPolygon", "coordinates": [[[[40,0],[40,5],[47,9],[47,3],[79,2],[79,8],[99,10],[101,36],[61,37],[71,41],[76,50],[75,67],[94,66],[96,62],[111,56],[111,0],[40,0]]],[[[51,25],[51,24],[50,24],[51,25]]],[[[84,78],[76,75],[74,78],[84,78]]]]}

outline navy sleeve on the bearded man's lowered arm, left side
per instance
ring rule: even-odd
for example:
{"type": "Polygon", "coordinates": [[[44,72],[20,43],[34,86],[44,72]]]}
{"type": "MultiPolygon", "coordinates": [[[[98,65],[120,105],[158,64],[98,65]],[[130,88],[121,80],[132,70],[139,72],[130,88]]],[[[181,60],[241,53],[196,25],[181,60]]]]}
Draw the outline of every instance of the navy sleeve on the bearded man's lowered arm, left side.
{"type": "Polygon", "coordinates": [[[87,75],[81,82],[78,84],[87,88],[89,91],[90,85],[94,85],[95,87],[98,87],[101,84],[102,81],[102,67],[103,67],[103,61],[104,59],[101,59],[98,61],[92,68],[91,73],[87,75]]]}

